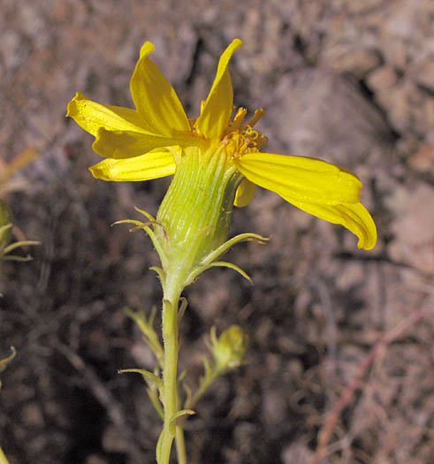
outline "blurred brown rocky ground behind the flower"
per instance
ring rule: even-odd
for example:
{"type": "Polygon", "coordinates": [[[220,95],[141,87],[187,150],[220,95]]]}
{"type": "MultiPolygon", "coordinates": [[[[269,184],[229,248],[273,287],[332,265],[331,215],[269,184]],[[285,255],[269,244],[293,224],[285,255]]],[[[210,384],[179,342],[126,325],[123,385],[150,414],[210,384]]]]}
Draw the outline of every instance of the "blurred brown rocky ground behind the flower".
{"type": "Polygon", "coordinates": [[[5,198],[16,240],[42,242],[27,250],[33,262],[0,264],[0,359],[18,351],[0,393],[11,464],[154,462],[160,419],[141,377],[118,369],[153,367],[124,311],[159,305],[148,270],[156,253],[144,234],[110,224],[138,218],[133,205],[156,214],[169,179],[93,179],[93,138],[65,110],[76,91],[131,107],[129,80],[149,40],[195,117],[234,37],[244,42],[231,65],[235,104],[266,110],[268,151],[355,171],[379,240],[358,250],[344,228],[266,191],[235,211],[233,235],[272,240],[227,255],[254,286],[209,270],[185,293],[180,362],[191,386],[212,325],[238,323],[251,338],[248,364],[188,420],[190,462],[432,462],[434,4],[0,5],[3,169],[29,149],[39,155],[5,198]]]}

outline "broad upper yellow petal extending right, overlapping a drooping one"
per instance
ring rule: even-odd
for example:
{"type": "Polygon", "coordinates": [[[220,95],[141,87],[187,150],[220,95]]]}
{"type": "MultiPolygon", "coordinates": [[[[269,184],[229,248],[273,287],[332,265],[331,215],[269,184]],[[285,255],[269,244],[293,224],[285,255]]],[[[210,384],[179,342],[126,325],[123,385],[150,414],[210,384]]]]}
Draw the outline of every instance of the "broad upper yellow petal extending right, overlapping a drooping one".
{"type": "Polygon", "coordinates": [[[335,164],[304,156],[247,153],[237,162],[240,171],[258,186],[288,202],[357,203],[362,182],[335,164]]]}

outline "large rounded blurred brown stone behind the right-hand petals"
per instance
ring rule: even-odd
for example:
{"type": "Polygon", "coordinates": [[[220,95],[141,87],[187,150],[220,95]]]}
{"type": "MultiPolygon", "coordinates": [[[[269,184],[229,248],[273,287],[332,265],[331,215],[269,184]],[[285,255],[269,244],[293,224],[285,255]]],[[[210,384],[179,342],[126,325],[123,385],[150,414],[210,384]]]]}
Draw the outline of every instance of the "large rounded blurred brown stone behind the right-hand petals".
{"type": "Polygon", "coordinates": [[[351,168],[391,138],[375,106],[327,69],[304,68],[285,76],[267,108],[267,121],[293,155],[323,157],[351,168]]]}

